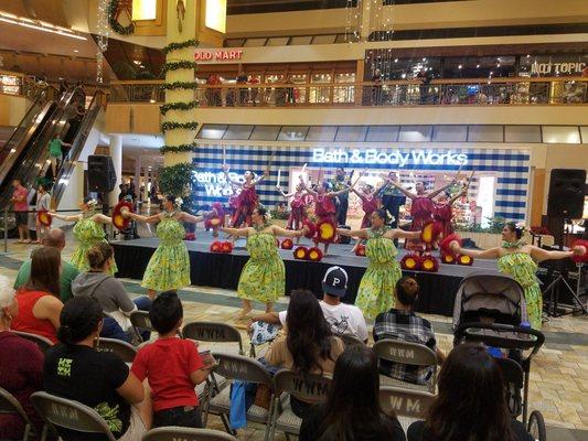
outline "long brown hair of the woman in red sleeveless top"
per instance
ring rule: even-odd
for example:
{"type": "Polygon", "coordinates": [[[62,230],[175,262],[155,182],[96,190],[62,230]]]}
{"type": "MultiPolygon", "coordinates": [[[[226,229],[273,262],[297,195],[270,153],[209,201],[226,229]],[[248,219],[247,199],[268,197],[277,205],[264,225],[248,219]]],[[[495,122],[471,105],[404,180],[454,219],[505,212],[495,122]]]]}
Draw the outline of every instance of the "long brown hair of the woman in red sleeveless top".
{"type": "Polygon", "coordinates": [[[31,254],[31,276],[24,286],[30,291],[45,291],[60,297],[60,266],[62,257],[53,247],[38,248],[31,254]]]}

